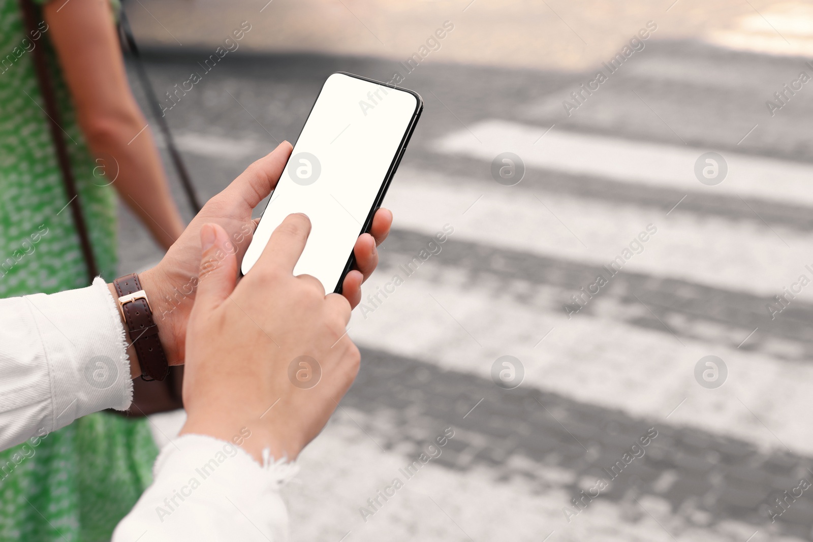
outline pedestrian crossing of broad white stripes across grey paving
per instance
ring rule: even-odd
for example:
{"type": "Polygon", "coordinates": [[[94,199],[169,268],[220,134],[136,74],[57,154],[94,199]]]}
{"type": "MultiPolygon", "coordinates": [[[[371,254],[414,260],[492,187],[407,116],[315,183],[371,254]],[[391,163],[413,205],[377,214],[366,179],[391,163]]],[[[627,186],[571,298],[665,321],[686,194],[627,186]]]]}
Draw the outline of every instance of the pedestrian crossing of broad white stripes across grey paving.
{"type": "MultiPolygon", "coordinates": [[[[359,381],[286,489],[292,540],[813,540],[804,501],[775,524],[766,511],[813,476],[813,288],[776,319],[766,307],[813,278],[813,166],[625,134],[492,115],[416,134],[350,321],[359,381]],[[526,167],[511,187],[490,173],[506,151],[526,167]],[[728,166],[720,184],[694,173],[710,151],[728,166]],[[367,297],[446,224],[437,254],[367,297]],[[568,318],[650,224],[640,254],[568,318]],[[503,355],[524,365],[515,390],[493,382],[503,355]],[[728,367],[719,388],[695,377],[707,355],[728,367]],[[365,522],[368,497],[447,424],[454,444],[365,522]],[[647,427],[662,440],[568,522],[572,497],[647,427]]],[[[266,150],[237,129],[177,139],[201,170],[266,150]]]]}

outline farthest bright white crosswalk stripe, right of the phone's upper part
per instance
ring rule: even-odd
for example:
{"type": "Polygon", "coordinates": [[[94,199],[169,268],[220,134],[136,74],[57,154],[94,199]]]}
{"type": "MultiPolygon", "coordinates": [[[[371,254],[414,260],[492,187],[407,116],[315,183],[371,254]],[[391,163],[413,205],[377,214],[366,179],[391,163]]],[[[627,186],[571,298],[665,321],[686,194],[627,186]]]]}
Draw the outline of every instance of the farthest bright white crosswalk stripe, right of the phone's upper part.
{"type": "MultiPolygon", "coordinates": [[[[528,167],[598,176],[642,187],[669,187],[693,193],[755,197],[794,205],[813,205],[813,166],[775,158],[721,152],[728,175],[715,186],[694,175],[698,158],[714,149],[630,141],[505,120],[484,120],[435,141],[430,149],[491,162],[506,151],[528,167]],[[471,131],[469,131],[471,130],[471,131]],[[543,135],[544,134],[544,135],[543,135]]],[[[732,141],[732,145],[737,141],[732,141]]]]}

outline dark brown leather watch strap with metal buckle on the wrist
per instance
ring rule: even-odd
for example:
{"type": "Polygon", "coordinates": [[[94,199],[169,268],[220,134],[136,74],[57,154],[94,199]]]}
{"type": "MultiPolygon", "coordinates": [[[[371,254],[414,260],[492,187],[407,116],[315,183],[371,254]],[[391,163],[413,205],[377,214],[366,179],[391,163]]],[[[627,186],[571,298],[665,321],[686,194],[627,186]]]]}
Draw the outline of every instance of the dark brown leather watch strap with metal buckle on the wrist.
{"type": "Polygon", "coordinates": [[[150,303],[141,289],[138,275],[131,273],[113,281],[119,294],[119,310],[127,323],[127,330],[136,347],[138,362],[141,364],[141,378],[163,380],[169,374],[167,355],[161,346],[158,326],[152,317],[150,303]]]}

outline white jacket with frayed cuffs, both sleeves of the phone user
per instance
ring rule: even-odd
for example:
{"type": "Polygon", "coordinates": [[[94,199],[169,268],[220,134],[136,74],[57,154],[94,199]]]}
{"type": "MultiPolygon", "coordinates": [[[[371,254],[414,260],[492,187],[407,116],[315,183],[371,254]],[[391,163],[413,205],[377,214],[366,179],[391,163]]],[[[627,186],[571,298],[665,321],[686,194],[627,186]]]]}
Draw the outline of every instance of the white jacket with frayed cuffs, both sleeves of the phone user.
{"type": "MultiPolygon", "coordinates": [[[[11,462],[24,461],[50,431],[98,410],[127,410],[132,400],[124,327],[102,279],[0,300],[0,449],[28,440],[11,462]]],[[[113,542],[286,540],[279,489],[296,469],[269,457],[261,466],[209,436],[181,436],[162,450],[153,484],[113,542]]]]}

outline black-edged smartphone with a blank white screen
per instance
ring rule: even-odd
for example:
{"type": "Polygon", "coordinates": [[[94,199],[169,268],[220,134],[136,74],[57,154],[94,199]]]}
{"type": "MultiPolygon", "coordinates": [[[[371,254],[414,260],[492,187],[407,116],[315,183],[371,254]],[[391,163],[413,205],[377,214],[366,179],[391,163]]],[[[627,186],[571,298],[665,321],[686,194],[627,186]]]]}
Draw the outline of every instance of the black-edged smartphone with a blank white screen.
{"type": "Polygon", "coordinates": [[[393,179],[424,110],[418,93],[337,72],[325,80],[243,258],[246,275],[292,213],[311,219],[294,275],[341,293],[353,247],[393,179]]]}

